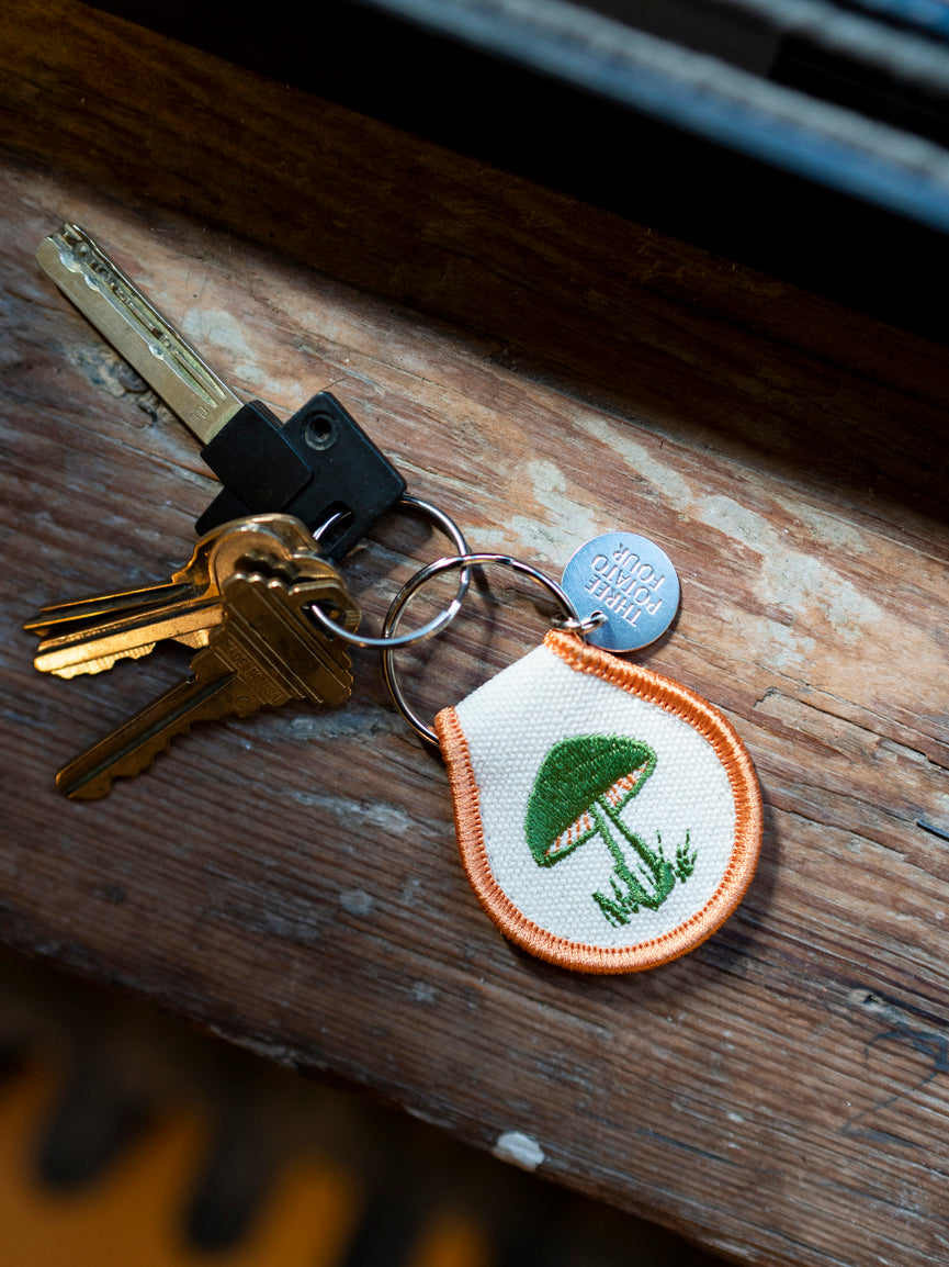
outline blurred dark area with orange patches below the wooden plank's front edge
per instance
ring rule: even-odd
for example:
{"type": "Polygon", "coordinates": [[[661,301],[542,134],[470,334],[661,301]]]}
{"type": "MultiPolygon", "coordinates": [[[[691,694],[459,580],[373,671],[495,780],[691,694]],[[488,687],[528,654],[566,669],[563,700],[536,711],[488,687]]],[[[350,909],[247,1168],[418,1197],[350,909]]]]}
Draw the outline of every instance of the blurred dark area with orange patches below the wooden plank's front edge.
{"type": "Polygon", "coordinates": [[[8,950],[0,983],[0,1267],[716,1262],[8,950]]]}

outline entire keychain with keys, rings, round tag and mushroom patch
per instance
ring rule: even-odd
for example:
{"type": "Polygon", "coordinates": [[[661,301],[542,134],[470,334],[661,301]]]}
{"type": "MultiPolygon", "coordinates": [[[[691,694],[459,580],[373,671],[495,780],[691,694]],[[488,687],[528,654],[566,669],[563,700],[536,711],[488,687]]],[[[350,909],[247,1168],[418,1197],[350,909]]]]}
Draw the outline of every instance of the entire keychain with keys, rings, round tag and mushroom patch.
{"type": "MultiPolygon", "coordinates": [[[[240,559],[232,571],[221,566],[211,585],[199,544],[191,564],[144,599],[135,590],[96,595],[30,621],[44,639],[38,668],[63,675],[139,656],[158,637],[197,649],[178,687],[61,772],[67,794],[104,796],[113,778],[149,765],[194,720],[245,716],[288,698],[342,702],[349,674],[340,644],[352,642],[382,651],[396,707],[440,749],[464,869],[512,941],[563,967],[633,972],[674,959],[721,925],[760,846],[750,759],[701,696],[614,654],[655,641],[676,614],[678,580],[662,550],[630,533],[597,537],[568,563],[564,588],[507,555],[471,554],[457,525],[405,493],[402,476],[328,393],[281,426],[230,392],[82,229],[63,226],[38,258],[204,443],[226,488],[201,530],[219,528],[228,542],[253,530],[262,551],[251,570],[240,559]],[[457,552],[416,573],[390,607],[383,636],[366,637],[354,632],[358,608],[342,578],[324,570],[395,504],[426,514],[457,552]],[[309,542],[291,550],[285,575],[286,540],[273,537],[273,523],[243,518],[249,511],[258,521],[273,512],[302,518],[320,551],[309,542]],[[392,653],[444,628],[469,569],[486,564],[533,578],[564,618],[542,646],[443,708],[433,730],[405,702],[392,653]],[[452,602],[399,635],[411,597],[447,570],[459,573],[452,602]],[[332,612],[319,601],[326,585],[332,612]]],[[[286,523],[283,531],[296,532],[286,523]]]]}

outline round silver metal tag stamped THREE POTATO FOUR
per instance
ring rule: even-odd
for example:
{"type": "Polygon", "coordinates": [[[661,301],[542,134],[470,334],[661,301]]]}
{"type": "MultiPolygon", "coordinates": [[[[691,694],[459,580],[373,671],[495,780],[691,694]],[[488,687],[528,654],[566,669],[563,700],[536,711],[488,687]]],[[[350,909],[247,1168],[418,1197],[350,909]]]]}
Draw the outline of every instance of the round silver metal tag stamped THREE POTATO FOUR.
{"type": "Polygon", "coordinates": [[[649,646],[678,611],[672,560],[634,532],[606,532],[582,545],[563,569],[563,588],[581,618],[606,614],[606,623],[587,635],[587,642],[606,651],[649,646]]]}

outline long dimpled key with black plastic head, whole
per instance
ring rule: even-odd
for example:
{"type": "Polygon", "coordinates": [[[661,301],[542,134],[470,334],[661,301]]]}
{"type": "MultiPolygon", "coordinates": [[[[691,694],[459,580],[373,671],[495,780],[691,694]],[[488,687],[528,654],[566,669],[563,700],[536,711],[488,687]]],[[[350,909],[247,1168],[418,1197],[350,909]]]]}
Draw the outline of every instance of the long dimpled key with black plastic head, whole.
{"type": "Polygon", "coordinates": [[[78,226],[44,238],[37,260],[204,445],[224,489],[197,519],[199,533],[267,511],[310,528],[333,519],[321,544],[335,561],[405,493],[402,476],[329,392],[283,426],[259,400],[239,400],[78,226]]]}

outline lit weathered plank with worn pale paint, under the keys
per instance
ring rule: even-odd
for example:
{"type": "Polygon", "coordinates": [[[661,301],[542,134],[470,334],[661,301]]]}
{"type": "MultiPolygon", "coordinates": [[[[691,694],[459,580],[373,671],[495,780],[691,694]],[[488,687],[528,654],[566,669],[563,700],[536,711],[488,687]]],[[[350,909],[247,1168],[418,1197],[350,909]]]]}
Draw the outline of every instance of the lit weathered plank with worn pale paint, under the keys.
{"type": "MultiPolygon", "coordinates": [[[[949,808],[944,533],[924,552],[919,530],[845,518],[802,476],[630,426],[450,331],[62,177],[8,174],[4,203],[4,936],[485,1145],[525,1130],[552,1176],[758,1261],[864,1261],[911,1183],[898,1253],[925,1261],[941,1235],[948,877],[915,820],[949,808]],[[649,663],[726,707],[769,802],[759,878],[721,934],[623,981],[512,952],[454,863],[443,772],[366,661],[344,712],[208,729],[102,803],[54,796],[54,767],[181,658],[53,682],[16,621],[161,574],[210,489],[183,430],[121,388],[35,270],[62,214],[134,261],[242,386],[288,408],[301,380],[335,383],[477,545],[553,566],[617,513],[667,545],[686,598],[649,663]]],[[[720,390],[736,390],[728,374],[720,390]]],[[[426,546],[407,525],[380,536],[396,555],[426,546]]],[[[428,654],[421,706],[529,645],[529,604],[501,602],[490,637],[472,617],[428,654]]]]}

